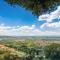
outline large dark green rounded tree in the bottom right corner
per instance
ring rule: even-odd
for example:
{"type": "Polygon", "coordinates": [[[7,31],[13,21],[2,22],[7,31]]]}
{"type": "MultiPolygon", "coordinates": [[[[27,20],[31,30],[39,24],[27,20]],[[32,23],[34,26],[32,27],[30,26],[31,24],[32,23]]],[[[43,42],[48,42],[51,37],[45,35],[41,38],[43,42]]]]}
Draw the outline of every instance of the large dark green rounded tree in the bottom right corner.
{"type": "Polygon", "coordinates": [[[44,52],[47,58],[51,60],[59,60],[60,59],[60,45],[59,44],[51,44],[44,48],[44,52]]]}

